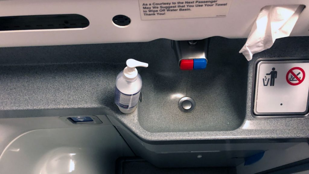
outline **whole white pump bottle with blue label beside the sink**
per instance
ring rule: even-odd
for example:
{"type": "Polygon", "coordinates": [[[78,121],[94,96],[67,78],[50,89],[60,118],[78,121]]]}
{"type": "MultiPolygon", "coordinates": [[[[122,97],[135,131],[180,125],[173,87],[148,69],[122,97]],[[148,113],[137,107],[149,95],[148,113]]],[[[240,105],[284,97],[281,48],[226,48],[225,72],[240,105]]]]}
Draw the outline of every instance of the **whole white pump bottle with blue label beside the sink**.
{"type": "Polygon", "coordinates": [[[127,60],[127,67],[116,78],[115,103],[125,114],[135,111],[142,89],[142,77],[135,67],[148,67],[148,63],[127,60]]]}

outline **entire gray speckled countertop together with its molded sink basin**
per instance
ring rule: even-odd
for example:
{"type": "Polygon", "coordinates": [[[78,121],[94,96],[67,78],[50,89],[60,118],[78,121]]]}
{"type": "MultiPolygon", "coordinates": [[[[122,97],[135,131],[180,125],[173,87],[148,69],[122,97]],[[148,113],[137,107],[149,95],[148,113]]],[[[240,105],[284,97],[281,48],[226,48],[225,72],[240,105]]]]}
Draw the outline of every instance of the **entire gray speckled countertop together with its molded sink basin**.
{"type": "MultiPolygon", "coordinates": [[[[232,87],[224,86],[228,79],[212,79],[214,85],[208,86],[201,82],[203,86],[212,87],[212,92],[216,86],[222,87],[218,88],[218,94],[209,94],[204,99],[194,93],[195,89],[204,88],[195,88],[196,82],[189,79],[198,79],[199,73],[204,73],[201,78],[207,81],[205,78],[210,77],[207,68],[201,72],[180,71],[171,42],[166,39],[146,43],[0,48],[0,116],[50,116],[15,115],[14,111],[100,108],[102,114],[116,117],[145,141],[309,138],[308,117],[256,119],[251,115],[254,62],[265,57],[308,56],[308,40],[309,37],[278,39],[271,49],[256,54],[248,63],[238,53],[245,39],[212,37],[209,72],[216,72],[211,66],[218,67],[226,59],[221,68],[246,74],[239,78],[242,79],[239,88],[233,82],[229,83],[234,85],[232,87]],[[113,102],[114,81],[129,58],[148,62],[150,66],[139,68],[143,78],[143,102],[132,114],[125,115],[113,102]],[[194,99],[207,106],[211,101],[218,101],[214,101],[217,103],[214,108],[197,108],[195,113],[184,115],[170,104],[178,98],[165,99],[181,92],[195,96],[194,99]],[[226,96],[229,92],[235,95],[226,96]]],[[[225,77],[229,73],[220,75],[225,77]]],[[[229,79],[232,78],[238,77],[230,75],[229,79]]]]}

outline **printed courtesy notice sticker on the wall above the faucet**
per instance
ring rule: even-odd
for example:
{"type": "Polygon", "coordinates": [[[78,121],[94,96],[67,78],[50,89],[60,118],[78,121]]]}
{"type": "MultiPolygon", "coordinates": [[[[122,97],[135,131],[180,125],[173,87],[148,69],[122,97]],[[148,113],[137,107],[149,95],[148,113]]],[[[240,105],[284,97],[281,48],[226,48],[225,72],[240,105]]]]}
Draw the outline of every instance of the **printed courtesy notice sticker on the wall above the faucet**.
{"type": "Polygon", "coordinates": [[[232,0],[139,0],[142,20],[225,17],[232,0]]]}

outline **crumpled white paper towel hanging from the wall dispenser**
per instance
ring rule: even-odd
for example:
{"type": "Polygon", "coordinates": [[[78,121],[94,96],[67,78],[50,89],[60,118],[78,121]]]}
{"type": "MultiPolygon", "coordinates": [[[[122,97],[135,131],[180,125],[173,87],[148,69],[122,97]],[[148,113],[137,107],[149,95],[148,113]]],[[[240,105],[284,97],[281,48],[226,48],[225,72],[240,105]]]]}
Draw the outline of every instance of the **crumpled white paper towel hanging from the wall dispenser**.
{"type": "Polygon", "coordinates": [[[249,61],[252,55],[269,49],[277,38],[290,36],[304,5],[265,6],[252,26],[246,44],[239,51],[249,61]]]}

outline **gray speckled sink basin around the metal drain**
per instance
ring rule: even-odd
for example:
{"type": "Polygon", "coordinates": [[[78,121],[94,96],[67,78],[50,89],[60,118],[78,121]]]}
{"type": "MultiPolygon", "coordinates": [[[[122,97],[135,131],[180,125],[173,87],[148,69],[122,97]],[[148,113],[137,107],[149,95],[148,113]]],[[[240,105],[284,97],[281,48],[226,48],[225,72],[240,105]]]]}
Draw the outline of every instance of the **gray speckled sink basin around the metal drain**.
{"type": "Polygon", "coordinates": [[[211,49],[213,44],[217,48],[221,45],[222,50],[242,46],[224,40],[210,42],[205,70],[181,71],[176,58],[169,58],[165,67],[150,67],[141,72],[143,88],[138,121],[145,130],[194,132],[239,128],[245,118],[248,62],[241,54],[227,55],[211,49]],[[183,97],[195,101],[192,112],[178,108],[183,97]]]}

